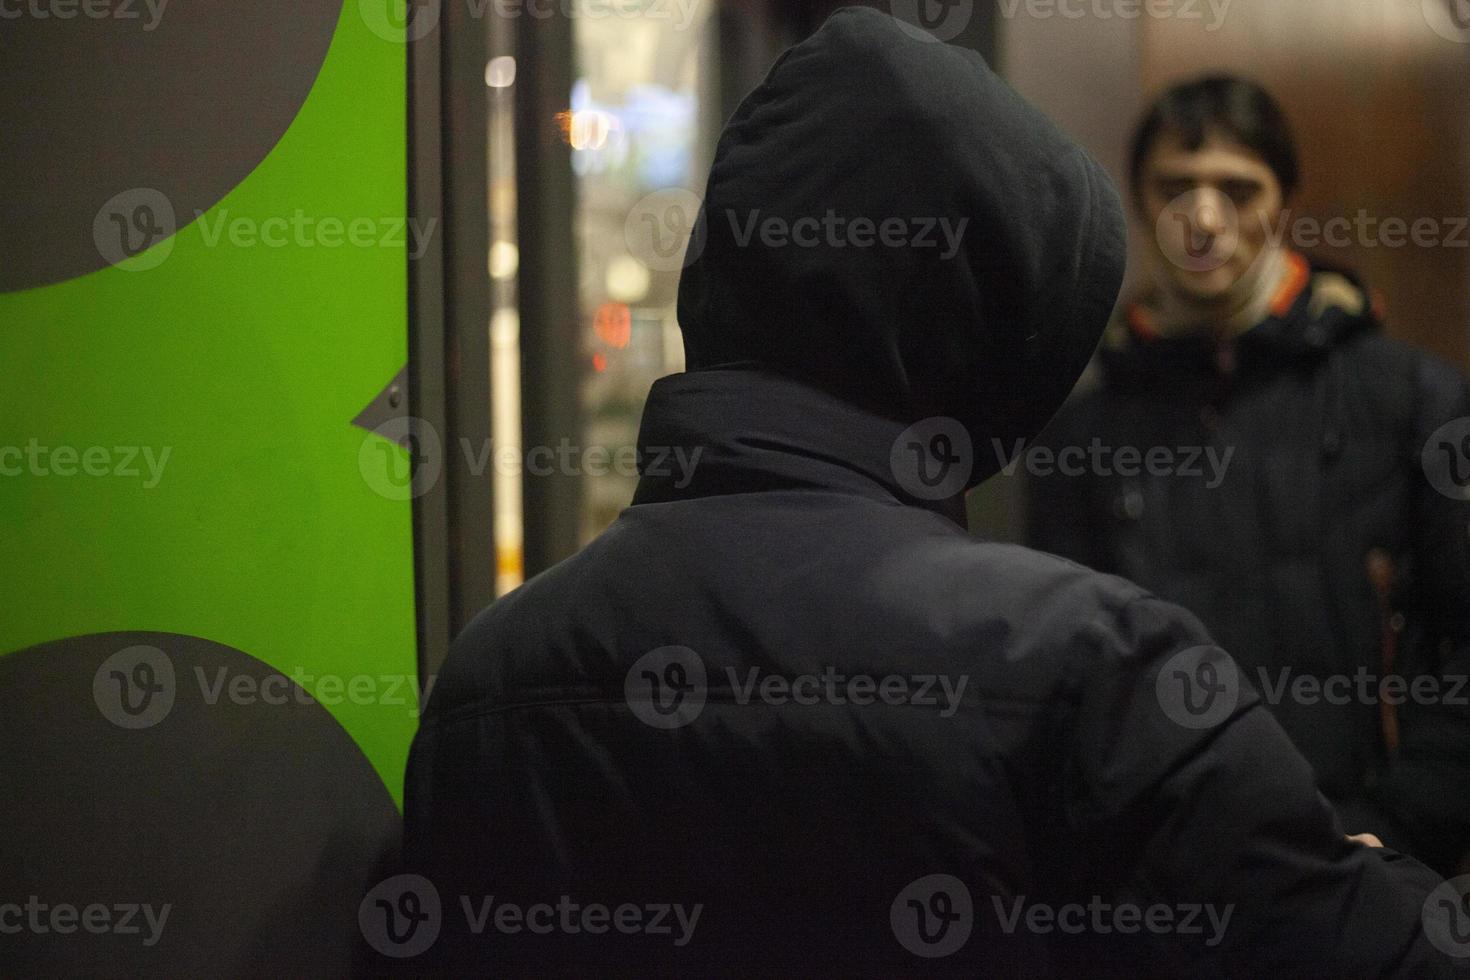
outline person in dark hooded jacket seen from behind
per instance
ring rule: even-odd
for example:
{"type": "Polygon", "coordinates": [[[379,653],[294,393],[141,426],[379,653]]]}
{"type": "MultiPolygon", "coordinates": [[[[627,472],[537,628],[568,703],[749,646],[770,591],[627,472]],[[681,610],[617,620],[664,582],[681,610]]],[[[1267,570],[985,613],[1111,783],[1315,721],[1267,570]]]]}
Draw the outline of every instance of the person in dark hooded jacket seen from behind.
{"type": "Polygon", "coordinates": [[[1123,213],[1086,153],[973,51],[845,9],[729,120],[689,254],[688,370],[650,392],[632,505],[438,679],[406,789],[440,909],[413,962],[1464,962],[1439,879],[1344,836],[1189,613],[958,523],[1116,300],[1123,213]],[[691,472],[656,464],[676,451],[691,472]]]}

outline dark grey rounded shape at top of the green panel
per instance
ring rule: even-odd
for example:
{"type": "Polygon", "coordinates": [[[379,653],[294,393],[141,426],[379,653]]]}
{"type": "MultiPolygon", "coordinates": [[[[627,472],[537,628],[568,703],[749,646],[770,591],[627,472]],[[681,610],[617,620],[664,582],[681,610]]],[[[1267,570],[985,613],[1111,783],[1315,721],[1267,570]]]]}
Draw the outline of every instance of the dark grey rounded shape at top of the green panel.
{"type": "Polygon", "coordinates": [[[143,270],[244,181],[316,82],[341,0],[12,4],[0,292],[143,270]],[[21,84],[25,79],[26,84],[21,84]]]}

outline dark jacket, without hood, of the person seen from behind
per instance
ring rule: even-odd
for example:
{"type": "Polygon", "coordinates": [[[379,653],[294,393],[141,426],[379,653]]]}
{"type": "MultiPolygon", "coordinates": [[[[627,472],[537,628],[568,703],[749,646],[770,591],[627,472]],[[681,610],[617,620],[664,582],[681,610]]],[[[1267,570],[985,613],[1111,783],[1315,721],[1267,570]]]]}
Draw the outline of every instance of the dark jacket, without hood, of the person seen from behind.
{"type": "Polygon", "coordinates": [[[442,907],[426,962],[1449,976],[1420,927],[1436,876],[1345,840],[1248,688],[1191,724],[1173,674],[1229,671],[1192,616],[911,505],[901,429],[753,372],[654,386],[641,441],[701,448],[694,480],[647,479],[490,607],[434,692],[406,799],[442,907]],[[562,896],[694,929],[507,932],[562,896]],[[465,901],[507,927],[475,934],[465,901]],[[1151,907],[1186,932],[1117,932],[1151,907]]]}

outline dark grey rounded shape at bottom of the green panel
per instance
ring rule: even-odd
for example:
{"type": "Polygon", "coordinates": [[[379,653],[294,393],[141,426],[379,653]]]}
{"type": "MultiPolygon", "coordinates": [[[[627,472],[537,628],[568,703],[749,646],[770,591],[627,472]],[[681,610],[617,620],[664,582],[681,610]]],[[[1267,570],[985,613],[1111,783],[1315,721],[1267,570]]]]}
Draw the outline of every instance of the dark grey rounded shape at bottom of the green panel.
{"type": "Polygon", "coordinates": [[[6,976],[341,976],[398,810],[295,682],[176,633],[0,657],[6,976]]]}

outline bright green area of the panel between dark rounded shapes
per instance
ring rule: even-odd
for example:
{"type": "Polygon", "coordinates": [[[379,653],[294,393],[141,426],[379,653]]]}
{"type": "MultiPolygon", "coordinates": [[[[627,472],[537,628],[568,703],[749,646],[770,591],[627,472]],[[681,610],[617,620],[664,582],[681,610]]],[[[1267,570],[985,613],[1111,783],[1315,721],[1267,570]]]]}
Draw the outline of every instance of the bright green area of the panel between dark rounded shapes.
{"type": "MultiPolygon", "coordinates": [[[[413,677],[410,502],[365,482],[376,436],[350,425],[407,357],[404,93],[404,46],[348,1],[281,143],[162,263],[0,295],[0,453],[153,453],[138,476],[0,457],[24,470],[0,476],[0,651],[160,630],[288,676],[413,677]],[[301,244],[206,234],[298,215],[301,244]],[[370,219],[373,242],[320,241],[325,217],[370,219]]],[[[413,695],[328,708],[401,801],[413,695]]]]}

